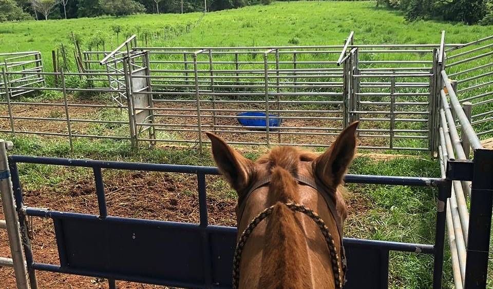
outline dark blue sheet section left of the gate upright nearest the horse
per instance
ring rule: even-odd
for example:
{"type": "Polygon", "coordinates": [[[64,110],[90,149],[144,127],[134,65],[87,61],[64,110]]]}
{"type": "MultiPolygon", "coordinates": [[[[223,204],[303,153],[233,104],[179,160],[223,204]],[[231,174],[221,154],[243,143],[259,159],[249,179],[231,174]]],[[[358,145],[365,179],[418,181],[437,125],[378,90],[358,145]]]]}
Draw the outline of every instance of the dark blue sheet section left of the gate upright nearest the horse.
{"type": "Polygon", "coordinates": [[[59,252],[65,251],[70,269],[133,280],[204,282],[201,230],[104,220],[63,219],[56,223],[56,235],[63,236],[63,240],[57,239],[59,252]]]}

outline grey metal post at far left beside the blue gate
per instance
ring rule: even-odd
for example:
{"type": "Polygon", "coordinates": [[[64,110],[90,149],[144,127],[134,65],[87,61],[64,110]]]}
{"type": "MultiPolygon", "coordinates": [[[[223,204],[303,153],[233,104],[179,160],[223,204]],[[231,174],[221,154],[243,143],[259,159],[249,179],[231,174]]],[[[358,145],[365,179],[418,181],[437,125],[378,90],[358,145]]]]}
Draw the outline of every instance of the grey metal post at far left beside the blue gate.
{"type": "MultiPolygon", "coordinates": [[[[5,73],[5,70],[4,70],[5,73]]],[[[8,143],[0,140],[0,194],[4,208],[7,235],[9,237],[10,253],[14,264],[15,282],[18,289],[29,289],[27,270],[22,251],[21,231],[18,226],[18,216],[15,212],[12,183],[10,182],[9,162],[7,158],[8,143]]]]}

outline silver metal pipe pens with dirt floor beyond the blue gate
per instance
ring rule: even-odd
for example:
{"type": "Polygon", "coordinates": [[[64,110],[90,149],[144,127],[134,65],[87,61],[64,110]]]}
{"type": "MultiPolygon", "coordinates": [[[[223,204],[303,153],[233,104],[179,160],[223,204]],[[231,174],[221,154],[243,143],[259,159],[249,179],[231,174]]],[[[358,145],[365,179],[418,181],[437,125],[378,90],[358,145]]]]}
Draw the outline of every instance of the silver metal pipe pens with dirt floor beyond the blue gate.
{"type": "MultiPolygon", "coordinates": [[[[327,147],[360,120],[362,149],[431,150],[440,44],[359,45],[353,37],[340,46],[154,48],[137,47],[134,36],[113,52],[82,51],[80,73],[40,72],[39,53],[16,53],[6,57],[2,132],[201,148],[203,132],[214,131],[240,145],[327,147]],[[237,114],[249,112],[271,116],[263,127],[240,125],[237,114]],[[265,126],[274,120],[280,127],[265,126]]],[[[492,129],[490,42],[445,44],[447,70],[484,137],[492,129]]]]}

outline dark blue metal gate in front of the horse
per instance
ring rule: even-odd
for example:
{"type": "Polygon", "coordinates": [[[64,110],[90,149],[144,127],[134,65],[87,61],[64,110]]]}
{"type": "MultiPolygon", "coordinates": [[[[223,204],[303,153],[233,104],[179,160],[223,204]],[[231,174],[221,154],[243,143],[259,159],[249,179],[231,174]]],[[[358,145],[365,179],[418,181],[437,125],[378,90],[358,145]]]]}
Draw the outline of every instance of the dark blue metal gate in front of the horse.
{"type": "MultiPolygon", "coordinates": [[[[454,164],[456,162],[449,161],[448,172],[452,176],[460,175],[454,173],[454,164]]],[[[209,225],[207,222],[206,175],[219,174],[216,168],[29,156],[10,156],[9,166],[30,275],[34,276],[35,270],[42,270],[101,277],[110,280],[110,287],[115,286],[115,279],[187,288],[231,287],[236,228],[209,225]],[[92,168],[99,215],[25,207],[17,163],[92,168]],[[200,223],[108,216],[102,169],[196,174],[200,223]],[[33,260],[25,225],[26,216],[53,220],[60,265],[33,260]]],[[[457,169],[463,169],[463,166],[457,169]]],[[[445,201],[450,196],[451,180],[347,175],[345,181],[437,187],[439,192],[434,244],[344,239],[349,267],[345,288],[387,288],[390,251],[434,255],[433,287],[440,288],[443,271],[445,201]]]]}

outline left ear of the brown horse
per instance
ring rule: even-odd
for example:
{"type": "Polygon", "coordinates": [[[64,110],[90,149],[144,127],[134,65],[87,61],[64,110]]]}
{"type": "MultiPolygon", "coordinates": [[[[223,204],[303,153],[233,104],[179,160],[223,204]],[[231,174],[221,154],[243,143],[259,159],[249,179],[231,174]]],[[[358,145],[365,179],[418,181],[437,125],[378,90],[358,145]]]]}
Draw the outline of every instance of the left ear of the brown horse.
{"type": "Polygon", "coordinates": [[[254,164],[242,156],[217,135],[205,133],[212,142],[212,154],[221,174],[236,192],[243,192],[249,185],[254,173],[254,164]]]}

